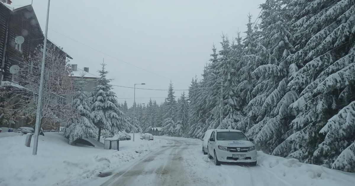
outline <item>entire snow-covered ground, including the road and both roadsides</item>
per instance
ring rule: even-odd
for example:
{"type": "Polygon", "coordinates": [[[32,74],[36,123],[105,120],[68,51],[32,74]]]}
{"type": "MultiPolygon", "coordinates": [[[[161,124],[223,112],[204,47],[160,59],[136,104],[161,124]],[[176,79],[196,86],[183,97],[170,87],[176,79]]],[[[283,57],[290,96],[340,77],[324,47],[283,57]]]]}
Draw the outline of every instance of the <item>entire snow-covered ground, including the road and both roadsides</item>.
{"type": "Polygon", "coordinates": [[[71,146],[59,133],[45,133],[39,136],[38,155],[33,156],[32,148],[24,146],[25,136],[1,136],[0,133],[1,186],[350,186],[355,183],[355,174],[261,151],[257,166],[215,166],[213,159],[203,155],[202,141],[197,139],[154,136],[154,141],[147,141],[136,135],[136,142],[120,141],[120,151],[114,151],[71,146]],[[112,175],[98,177],[100,172],[112,175]]]}

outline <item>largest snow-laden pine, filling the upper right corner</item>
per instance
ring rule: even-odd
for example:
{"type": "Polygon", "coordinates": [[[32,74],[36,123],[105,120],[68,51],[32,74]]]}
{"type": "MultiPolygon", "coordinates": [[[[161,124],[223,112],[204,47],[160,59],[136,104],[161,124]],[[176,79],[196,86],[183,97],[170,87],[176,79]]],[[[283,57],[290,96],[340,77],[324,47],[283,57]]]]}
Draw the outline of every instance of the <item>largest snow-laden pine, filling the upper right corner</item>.
{"type": "MultiPolygon", "coordinates": [[[[354,76],[351,75],[354,74],[355,31],[351,29],[355,20],[354,3],[354,0],[304,3],[304,10],[295,22],[300,25],[294,34],[299,38],[295,41],[298,51],[289,57],[299,67],[288,84],[289,89],[300,94],[290,105],[298,115],[291,122],[292,133],[273,154],[306,163],[330,164],[344,150],[345,147],[338,146],[334,153],[319,156],[323,150],[317,149],[324,144],[326,130],[322,129],[328,120],[354,101],[354,76]]],[[[346,139],[339,143],[350,145],[346,139]]]]}

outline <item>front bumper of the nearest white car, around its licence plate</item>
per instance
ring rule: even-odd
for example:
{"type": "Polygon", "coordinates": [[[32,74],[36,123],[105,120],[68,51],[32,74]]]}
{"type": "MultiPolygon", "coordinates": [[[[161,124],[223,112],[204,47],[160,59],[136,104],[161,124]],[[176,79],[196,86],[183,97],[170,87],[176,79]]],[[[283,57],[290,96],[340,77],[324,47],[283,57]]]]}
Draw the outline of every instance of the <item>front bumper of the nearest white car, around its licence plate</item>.
{"type": "Polygon", "coordinates": [[[249,152],[228,152],[216,149],[216,155],[220,162],[256,162],[256,150],[249,152]],[[233,158],[233,154],[245,154],[245,158],[233,158]]]}

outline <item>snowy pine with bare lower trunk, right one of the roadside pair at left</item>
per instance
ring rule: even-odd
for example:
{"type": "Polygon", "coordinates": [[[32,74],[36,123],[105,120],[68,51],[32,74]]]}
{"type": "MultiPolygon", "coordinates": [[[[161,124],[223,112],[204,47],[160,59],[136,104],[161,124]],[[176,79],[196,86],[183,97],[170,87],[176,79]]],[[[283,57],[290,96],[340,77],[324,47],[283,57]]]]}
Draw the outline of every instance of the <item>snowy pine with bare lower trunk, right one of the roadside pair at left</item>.
{"type": "Polygon", "coordinates": [[[107,130],[111,134],[117,134],[125,129],[128,118],[120,111],[116,100],[116,93],[111,91],[110,79],[106,78],[108,71],[105,71],[105,63],[102,63],[102,69],[99,72],[100,78],[97,79],[98,85],[91,92],[92,116],[94,125],[99,129],[98,141],[100,141],[101,130],[107,130]]]}

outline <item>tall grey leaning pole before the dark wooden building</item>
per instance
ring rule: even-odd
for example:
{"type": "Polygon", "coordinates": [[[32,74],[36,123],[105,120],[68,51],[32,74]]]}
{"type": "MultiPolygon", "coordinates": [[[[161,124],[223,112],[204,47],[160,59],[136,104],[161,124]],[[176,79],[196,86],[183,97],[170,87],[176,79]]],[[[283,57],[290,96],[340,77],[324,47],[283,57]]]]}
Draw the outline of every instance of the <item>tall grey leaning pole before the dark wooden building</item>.
{"type": "Polygon", "coordinates": [[[41,77],[40,77],[40,82],[39,82],[37,114],[36,114],[36,126],[35,126],[35,132],[34,132],[33,152],[32,152],[33,155],[37,154],[38,136],[39,136],[39,130],[40,130],[41,115],[42,115],[42,94],[43,94],[43,79],[44,79],[44,67],[45,67],[44,63],[45,63],[45,56],[46,56],[46,50],[47,50],[49,3],[50,3],[50,0],[48,0],[47,20],[46,20],[46,23],[45,23],[45,32],[44,32],[44,44],[43,44],[43,54],[42,54],[41,77]]]}

